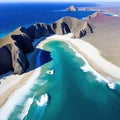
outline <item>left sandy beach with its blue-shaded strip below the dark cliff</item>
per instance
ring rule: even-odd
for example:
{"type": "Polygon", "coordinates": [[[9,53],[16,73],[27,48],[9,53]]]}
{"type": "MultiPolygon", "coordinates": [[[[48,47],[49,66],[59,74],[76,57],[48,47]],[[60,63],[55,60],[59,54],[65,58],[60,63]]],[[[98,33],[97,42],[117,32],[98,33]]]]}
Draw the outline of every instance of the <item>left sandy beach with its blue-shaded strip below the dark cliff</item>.
{"type": "MultiPolygon", "coordinates": [[[[42,39],[42,38],[41,38],[42,39]]],[[[41,41],[41,39],[36,40],[33,45],[34,47],[41,41]]],[[[18,88],[23,86],[30,76],[34,73],[36,67],[36,56],[38,54],[38,50],[35,49],[32,53],[27,55],[28,61],[30,63],[30,67],[26,71],[26,73],[22,75],[14,75],[11,72],[3,74],[0,76],[0,107],[7,101],[8,97],[18,88]]]]}

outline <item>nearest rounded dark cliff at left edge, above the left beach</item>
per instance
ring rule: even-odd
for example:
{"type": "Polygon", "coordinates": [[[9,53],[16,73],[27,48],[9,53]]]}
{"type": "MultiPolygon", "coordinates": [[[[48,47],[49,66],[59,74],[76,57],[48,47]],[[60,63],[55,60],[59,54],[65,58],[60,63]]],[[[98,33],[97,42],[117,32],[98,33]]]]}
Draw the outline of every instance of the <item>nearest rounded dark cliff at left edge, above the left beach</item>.
{"type": "Polygon", "coordinates": [[[14,74],[22,74],[29,65],[23,52],[13,44],[1,47],[0,57],[0,75],[10,70],[14,74]]]}

